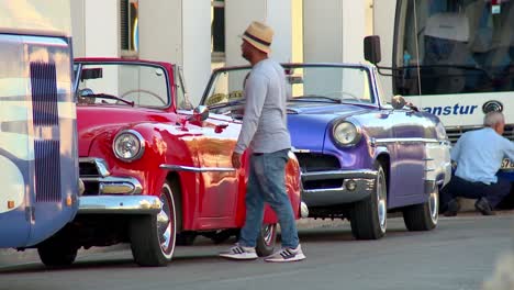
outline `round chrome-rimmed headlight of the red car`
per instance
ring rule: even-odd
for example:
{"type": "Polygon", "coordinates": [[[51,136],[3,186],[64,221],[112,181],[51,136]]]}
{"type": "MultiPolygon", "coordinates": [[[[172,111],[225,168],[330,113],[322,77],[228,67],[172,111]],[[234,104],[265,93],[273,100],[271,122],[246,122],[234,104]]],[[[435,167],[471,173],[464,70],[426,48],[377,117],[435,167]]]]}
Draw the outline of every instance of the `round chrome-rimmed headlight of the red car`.
{"type": "Polygon", "coordinates": [[[134,130],[118,133],[112,143],[114,155],[123,161],[137,160],[145,152],[145,140],[134,130]]]}

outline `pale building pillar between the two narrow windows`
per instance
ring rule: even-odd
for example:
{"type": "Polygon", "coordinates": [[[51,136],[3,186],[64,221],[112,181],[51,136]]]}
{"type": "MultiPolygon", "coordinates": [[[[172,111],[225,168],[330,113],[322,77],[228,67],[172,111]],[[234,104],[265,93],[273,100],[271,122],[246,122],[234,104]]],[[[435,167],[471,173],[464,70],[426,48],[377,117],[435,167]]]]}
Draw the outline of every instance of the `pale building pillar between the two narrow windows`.
{"type": "Polygon", "coordinates": [[[211,74],[211,1],[139,0],[139,57],[181,65],[198,104],[211,74]]]}

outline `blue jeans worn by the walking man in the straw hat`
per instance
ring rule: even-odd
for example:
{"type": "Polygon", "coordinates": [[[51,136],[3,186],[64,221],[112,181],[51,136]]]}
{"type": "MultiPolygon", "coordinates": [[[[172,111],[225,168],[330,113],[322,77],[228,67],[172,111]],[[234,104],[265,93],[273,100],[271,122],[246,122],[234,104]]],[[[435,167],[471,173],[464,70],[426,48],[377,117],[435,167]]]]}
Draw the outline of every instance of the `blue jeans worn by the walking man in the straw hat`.
{"type": "Polygon", "coordinates": [[[289,149],[273,153],[253,154],[246,185],[246,221],[241,230],[239,245],[255,247],[264,217],[264,202],[278,216],[282,247],[299,245],[297,224],[291,201],[286,191],[286,164],[289,149]]]}

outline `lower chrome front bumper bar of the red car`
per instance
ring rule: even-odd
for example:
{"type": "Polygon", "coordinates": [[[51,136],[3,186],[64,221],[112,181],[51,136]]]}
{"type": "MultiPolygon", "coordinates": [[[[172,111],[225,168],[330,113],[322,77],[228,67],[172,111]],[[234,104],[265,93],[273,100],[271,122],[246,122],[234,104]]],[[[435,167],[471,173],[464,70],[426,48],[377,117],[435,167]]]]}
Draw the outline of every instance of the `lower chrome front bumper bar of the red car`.
{"type": "Polygon", "coordinates": [[[80,197],[78,214],[157,214],[163,204],[154,196],[80,197]]]}

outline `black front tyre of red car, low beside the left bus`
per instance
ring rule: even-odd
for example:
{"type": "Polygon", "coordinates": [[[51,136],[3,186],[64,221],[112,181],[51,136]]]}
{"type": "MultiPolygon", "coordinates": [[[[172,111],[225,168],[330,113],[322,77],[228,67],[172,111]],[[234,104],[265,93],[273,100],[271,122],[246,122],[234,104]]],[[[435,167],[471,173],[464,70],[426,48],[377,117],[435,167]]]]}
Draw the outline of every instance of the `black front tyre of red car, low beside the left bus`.
{"type": "Polygon", "coordinates": [[[78,248],[59,243],[43,243],[37,247],[41,261],[48,267],[69,266],[77,258],[78,248]]]}

